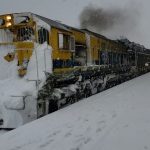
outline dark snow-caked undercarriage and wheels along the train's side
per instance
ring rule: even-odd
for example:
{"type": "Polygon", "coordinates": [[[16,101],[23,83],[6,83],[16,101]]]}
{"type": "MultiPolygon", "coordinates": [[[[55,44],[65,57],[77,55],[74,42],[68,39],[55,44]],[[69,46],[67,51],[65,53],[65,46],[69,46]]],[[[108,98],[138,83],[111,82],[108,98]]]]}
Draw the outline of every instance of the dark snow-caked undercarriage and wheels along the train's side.
{"type": "Polygon", "coordinates": [[[61,78],[59,75],[49,74],[38,93],[38,118],[146,72],[148,70],[137,72],[131,66],[113,68],[102,65],[75,69],[61,78]]]}

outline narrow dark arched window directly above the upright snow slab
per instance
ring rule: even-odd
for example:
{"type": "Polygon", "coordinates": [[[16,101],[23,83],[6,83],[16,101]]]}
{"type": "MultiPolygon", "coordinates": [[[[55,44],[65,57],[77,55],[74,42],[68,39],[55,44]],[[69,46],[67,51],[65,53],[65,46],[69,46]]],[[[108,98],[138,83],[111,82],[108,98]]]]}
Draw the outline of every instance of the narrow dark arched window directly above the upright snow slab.
{"type": "Polygon", "coordinates": [[[49,32],[45,28],[40,28],[38,30],[38,40],[40,44],[47,42],[49,44],[49,32]]]}

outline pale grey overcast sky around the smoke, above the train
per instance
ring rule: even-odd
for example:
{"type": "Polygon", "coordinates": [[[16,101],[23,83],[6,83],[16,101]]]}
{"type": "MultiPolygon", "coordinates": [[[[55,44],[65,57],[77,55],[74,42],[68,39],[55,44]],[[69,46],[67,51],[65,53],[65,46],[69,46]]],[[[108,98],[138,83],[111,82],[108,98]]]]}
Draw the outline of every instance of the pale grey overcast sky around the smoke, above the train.
{"type": "Polygon", "coordinates": [[[86,6],[123,8],[127,3],[140,13],[136,29],[126,31],[125,36],[150,48],[149,0],[0,0],[0,14],[29,11],[79,27],[79,15],[86,6]]]}

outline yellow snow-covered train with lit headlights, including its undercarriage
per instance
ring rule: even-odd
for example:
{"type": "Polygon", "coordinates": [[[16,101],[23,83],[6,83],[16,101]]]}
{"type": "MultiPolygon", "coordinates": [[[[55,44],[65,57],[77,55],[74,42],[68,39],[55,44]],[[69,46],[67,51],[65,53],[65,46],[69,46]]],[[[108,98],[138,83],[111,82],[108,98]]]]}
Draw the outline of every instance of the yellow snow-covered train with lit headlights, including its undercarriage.
{"type": "Polygon", "coordinates": [[[14,129],[150,71],[150,50],[30,13],[0,15],[0,128],[14,129]]]}

